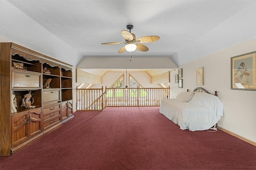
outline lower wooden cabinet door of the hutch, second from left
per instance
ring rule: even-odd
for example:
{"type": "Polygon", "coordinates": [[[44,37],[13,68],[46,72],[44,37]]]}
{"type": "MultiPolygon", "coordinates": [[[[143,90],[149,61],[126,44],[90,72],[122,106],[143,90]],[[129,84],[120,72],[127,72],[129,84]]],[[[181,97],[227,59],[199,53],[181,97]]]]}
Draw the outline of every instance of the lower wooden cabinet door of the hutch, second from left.
{"type": "Polygon", "coordinates": [[[41,123],[41,109],[35,109],[29,112],[29,134],[30,137],[33,137],[42,132],[42,123],[41,123]]]}

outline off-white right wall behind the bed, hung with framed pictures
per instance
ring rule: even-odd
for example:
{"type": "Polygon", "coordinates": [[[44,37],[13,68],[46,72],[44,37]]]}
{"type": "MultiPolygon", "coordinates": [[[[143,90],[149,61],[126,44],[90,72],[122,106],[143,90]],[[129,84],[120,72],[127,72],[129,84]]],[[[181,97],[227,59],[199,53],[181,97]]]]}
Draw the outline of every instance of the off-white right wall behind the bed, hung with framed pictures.
{"type": "Polygon", "coordinates": [[[204,85],[210,93],[218,92],[224,103],[224,115],[218,126],[256,142],[256,91],[230,89],[230,57],[256,51],[256,39],[179,66],[183,71],[183,88],[174,82],[178,69],[170,72],[170,97],[196,88],[196,68],[204,67],[204,85]]]}

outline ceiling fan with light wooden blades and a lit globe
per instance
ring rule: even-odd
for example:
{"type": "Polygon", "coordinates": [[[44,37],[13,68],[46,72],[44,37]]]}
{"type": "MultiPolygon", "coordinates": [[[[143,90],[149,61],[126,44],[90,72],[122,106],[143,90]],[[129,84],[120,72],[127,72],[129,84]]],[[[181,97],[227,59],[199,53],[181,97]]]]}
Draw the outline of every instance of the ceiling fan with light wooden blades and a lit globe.
{"type": "Polygon", "coordinates": [[[121,34],[125,39],[125,42],[111,42],[111,43],[101,43],[101,44],[103,44],[103,45],[126,44],[124,47],[122,47],[118,51],[118,53],[123,53],[124,51],[131,52],[131,51],[135,51],[136,49],[139,51],[146,52],[146,51],[148,51],[148,47],[141,43],[152,43],[152,42],[160,39],[160,37],[158,37],[156,35],[150,35],[150,36],[140,37],[140,38],[136,39],[135,34],[131,33],[131,29],[133,28],[133,25],[127,25],[126,28],[129,29],[130,32],[127,30],[121,31],[121,34]]]}

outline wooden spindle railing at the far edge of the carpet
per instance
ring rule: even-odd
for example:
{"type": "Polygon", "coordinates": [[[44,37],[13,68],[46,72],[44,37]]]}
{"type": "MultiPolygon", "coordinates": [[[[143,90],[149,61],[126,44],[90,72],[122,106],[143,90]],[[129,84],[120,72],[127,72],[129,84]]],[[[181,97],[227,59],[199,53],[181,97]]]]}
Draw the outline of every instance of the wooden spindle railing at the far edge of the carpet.
{"type": "Polygon", "coordinates": [[[170,96],[168,88],[77,88],[77,110],[103,110],[105,107],[160,106],[170,96]]]}

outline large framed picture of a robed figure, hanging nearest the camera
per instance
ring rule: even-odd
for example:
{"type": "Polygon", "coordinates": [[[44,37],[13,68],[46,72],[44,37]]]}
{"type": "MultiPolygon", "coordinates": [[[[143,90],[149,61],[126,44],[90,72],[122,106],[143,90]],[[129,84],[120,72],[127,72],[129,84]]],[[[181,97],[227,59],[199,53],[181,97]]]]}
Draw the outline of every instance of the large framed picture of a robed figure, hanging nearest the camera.
{"type": "Polygon", "coordinates": [[[256,51],[231,57],[231,89],[256,90],[256,51]]]}

